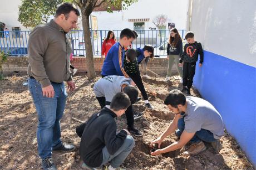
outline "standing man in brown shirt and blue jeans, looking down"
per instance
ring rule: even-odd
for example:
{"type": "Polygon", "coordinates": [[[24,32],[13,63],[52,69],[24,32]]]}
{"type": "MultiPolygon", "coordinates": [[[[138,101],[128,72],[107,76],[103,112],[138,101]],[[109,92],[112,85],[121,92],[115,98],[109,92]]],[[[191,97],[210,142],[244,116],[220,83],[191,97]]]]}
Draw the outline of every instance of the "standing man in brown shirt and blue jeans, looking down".
{"type": "Polygon", "coordinates": [[[70,3],[57,8],[55,18],[38,25],[28,40],[28,87],[38,115],[38,154],[43,169],[57,169],[52,150],[72,151],[75,146],[61,141],[60,119],[67,92],[76,88],[70,71],[71,44],[67,33],[77,27],[79,11],[70,3]]]}

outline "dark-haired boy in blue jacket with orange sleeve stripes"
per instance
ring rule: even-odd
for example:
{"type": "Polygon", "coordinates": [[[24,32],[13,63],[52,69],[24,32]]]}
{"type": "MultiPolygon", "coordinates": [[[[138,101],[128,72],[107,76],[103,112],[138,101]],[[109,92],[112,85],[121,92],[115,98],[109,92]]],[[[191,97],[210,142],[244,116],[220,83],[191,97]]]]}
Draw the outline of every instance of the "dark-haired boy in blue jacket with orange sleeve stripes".
{"type": "MultiPolygon", "coordinates": [[[[120,33],[119,42],[116,42],[107,53],[106,59],[102,65],[101,76],[104,78],[107,75],[121,75],[129,78],[129,75],[125,73],[123,68],[123,62],[125,58],[125,47],[129,47],[131,42],[136,38],[134,32],[125,28],[120,33]]],[[[140,117],[142,114],[139,112],[133,112],[134,118],[140,117]]]]}

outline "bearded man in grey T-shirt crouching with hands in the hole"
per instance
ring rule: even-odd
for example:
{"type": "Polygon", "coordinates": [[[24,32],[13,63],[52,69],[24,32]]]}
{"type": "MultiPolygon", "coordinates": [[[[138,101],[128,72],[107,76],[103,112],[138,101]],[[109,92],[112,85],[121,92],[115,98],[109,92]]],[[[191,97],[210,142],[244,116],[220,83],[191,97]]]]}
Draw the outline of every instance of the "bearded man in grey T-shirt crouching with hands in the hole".
{"type": "Polygon", "coordinates": [[[186,156],[204,151],[206,149],[204,142],[210,143],[216,152],[221,150],[219,138],[224,135],[224,125],[213,105],[199,97],[185,97],[179,90],[171,90],[164,104],[175,113],[175,117],[164,133],[151,142],[151,147],[154,143],[159,146],[159,150],[151,152],[151,155],[178,150],[188,142],[192,144],[189,150],[184,152],[186,156]],[[164,138],[175,130],[176,136],[180,138],[179,141],[160,149],[164,138]]]}

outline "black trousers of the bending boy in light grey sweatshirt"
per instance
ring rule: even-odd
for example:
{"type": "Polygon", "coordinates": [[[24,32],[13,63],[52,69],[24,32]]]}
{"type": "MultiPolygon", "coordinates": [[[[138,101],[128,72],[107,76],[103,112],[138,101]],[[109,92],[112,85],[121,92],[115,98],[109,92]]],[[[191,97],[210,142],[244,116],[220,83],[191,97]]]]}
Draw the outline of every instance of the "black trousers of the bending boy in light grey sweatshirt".
{"type": "MultiPolygon", "coordinates": [[[[106,98],[105,97],[96,97],[96,99],[99,101],[101,109],[106,106],[106,98]]],[[[127,126],[128,128],[134,127],[134,110],[132,109],[132,105],[130,105],[126,111],[126,120],[127,120],[127,126]]]]}

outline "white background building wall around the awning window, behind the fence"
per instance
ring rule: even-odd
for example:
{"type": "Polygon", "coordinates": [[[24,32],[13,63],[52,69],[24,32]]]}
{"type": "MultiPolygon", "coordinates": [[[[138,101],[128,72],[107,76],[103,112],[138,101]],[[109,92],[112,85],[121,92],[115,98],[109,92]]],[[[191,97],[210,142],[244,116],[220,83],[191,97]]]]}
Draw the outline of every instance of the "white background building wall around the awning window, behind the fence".
{"type": "Polygon", "coordinates": [[[186,29],[187,12],[188,0],[139,0],[124,11],[92,12],[92,15],[97,17],[99,29],[133,29],[133,22],[128,22],[128,19],[150,18],[145,22],[145,29],[149,29],[155,27],[152,19],[158,14],[168,16],[168,22],[174,22],[176,28],[186,29]]]}

